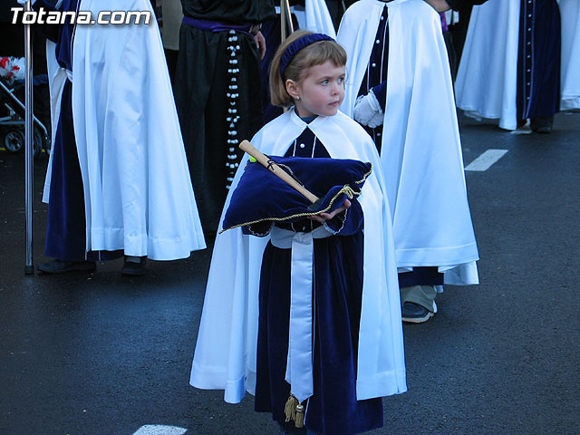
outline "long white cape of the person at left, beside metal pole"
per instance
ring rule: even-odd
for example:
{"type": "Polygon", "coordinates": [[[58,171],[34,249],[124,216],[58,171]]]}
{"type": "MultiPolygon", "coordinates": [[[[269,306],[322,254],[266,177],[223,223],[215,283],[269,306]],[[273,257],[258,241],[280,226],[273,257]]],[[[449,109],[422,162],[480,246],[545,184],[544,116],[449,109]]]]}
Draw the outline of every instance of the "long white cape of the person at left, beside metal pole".
{"type": "MultiPolygon", "coordinates": [[[[73,118],[87,251],[123,249],[125,255],[154,260],[188,257],[206,245],[150,2],[82,0],[79,9],[93,18],[120,9],[152,16],[149,25],[76,27],[73,118]]],[[[53,47],[48,64],[54,123],[67,73],[56,63],[53,47]]],[[[51,171],[52,160],[45,202],[51,171]]]]}

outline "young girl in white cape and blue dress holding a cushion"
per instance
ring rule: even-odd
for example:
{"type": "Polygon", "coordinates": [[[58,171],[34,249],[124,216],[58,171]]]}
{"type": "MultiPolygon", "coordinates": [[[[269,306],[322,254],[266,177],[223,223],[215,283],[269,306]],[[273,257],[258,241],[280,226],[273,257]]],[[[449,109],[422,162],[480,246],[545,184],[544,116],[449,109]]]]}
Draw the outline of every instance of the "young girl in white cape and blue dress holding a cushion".
{"type": "Polygon", "coordinates": [[[193,386],[224,389],[226,401],[255,394],[256,411],[271,412],[282,433],[295,426],[285,411],[314,433],[382,427],[380,398],[406,391],[389,205],[371,138],[338,111],[345,63],[324,34],[285,40],[270,83],[273,102],[290,110],[252,143],[268,155],[370,161],[375,170],[337,213],[246,228],[266,237],[218,235],[191,371],[193,386]]]}

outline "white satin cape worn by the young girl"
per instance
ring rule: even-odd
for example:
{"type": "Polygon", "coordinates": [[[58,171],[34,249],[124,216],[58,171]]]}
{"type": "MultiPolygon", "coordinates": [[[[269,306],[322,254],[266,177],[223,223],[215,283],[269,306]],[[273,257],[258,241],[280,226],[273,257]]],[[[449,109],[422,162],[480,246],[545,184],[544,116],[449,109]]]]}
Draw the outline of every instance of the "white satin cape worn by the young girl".
{"type": "MultiPolygon", "coordinates": [[[[258,131],[252,144],[266,154],[284,155],[306,126],[333,158],[373,164],[374,171],[358,198],[364,213],[364,277],[357,400],[406,391],[401,301],[379,156],[368,134],[341,112],[306,124],[294,110],[287,111],[258,131]]],[[[247,156],[237,170],[224,210],[246,162],[247,156]]],[[[224,400],[232,403],[241,401],[246,391],[256,391],[258,286],[268,239],[245,236],[239,227],[227,230],[216,238],[209,268],[190,383],[201,389],[225,390],[224,400]]]]}

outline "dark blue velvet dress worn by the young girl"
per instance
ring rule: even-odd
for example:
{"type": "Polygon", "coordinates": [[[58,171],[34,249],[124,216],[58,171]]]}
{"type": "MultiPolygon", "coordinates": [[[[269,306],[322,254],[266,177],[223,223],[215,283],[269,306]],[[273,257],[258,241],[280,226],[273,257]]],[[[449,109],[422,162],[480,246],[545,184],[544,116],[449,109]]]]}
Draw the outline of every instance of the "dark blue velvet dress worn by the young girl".
{"type": "MultiPolygon", "coordinates": [[[[328,157],[306,129],[286,156],[328,157]],[[302,147],[304,145],[304,147],[302,147]]],[[[321,434],[350,435],[382,427],[382,399],[356,400],[356,364],[362,304],[363,216],[353,199],[339,234],[314,239],[314,395],[304,424],[321,434]]],[[[310,219],[286,229],[309,231],[310,219]]],[[[256,411],[285,420],[290,385],[285,382],[290,318],[291,249],[268,243],[259,291],[256,411]]]]}

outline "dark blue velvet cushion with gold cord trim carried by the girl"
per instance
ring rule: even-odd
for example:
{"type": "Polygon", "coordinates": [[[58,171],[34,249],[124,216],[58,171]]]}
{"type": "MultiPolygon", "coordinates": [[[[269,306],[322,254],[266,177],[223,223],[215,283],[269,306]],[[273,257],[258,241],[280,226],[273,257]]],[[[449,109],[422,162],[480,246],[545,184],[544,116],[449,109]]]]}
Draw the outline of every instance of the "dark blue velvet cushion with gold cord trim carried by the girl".
{"type": "Polygon", "coordinates": [[[295,222],[331,213],[361,194],[372,164],[359,160],[271,156],[320,198],[314,204],[258,162],[248,162],[232,193],[221,231],[258,222],[295,222]]]}

